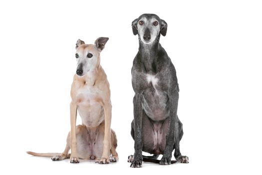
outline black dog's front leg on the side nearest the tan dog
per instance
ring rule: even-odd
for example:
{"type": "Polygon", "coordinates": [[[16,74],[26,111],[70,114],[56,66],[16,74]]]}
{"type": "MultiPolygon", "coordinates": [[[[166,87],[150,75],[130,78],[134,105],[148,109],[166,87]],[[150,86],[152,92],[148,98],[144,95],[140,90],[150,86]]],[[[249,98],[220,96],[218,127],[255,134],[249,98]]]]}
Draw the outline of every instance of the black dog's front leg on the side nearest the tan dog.
{"type": "Polygon", "coordinates": [[[134,103],[135,153],[130,167],[142,167],[142,94],[136,94],[134,103]]]}

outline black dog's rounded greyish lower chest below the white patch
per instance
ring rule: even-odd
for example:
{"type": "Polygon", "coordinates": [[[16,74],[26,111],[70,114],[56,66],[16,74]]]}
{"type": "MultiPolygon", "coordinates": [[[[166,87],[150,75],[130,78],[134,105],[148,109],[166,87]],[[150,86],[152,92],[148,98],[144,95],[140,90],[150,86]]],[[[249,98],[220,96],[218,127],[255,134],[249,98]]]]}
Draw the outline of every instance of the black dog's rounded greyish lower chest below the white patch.
{"type": "Polygon", "coordinates": [[[142,106],[145,113],[154,121],[164,120],[169,116],[166,92],[148,88],[143,93],[142,106]]]}

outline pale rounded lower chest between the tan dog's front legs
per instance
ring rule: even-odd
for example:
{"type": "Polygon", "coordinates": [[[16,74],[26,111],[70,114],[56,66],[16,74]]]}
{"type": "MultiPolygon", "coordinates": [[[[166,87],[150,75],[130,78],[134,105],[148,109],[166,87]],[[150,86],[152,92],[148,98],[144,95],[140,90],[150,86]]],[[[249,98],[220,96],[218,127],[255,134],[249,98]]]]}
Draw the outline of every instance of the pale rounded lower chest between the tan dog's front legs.
{"type": "Polygon", "coordinates": [[[104,120],[104,109],[98,102],[78,104],[78,113],[82,124],[87,127],[96,127],[104,120]]]}

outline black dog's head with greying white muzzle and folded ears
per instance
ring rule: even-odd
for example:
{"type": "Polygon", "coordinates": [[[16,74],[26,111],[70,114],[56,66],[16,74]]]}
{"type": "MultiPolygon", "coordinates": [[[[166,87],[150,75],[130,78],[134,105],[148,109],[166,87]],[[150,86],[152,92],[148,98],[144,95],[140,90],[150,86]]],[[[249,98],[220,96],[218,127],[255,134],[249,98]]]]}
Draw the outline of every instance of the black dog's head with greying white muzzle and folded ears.
{"type": "Polygon", "coordinates": [[[167,33],[167,22],[160,19],[156,14],[142,14],[132,22],[134,35],[138,34],[141,41],[146,44],[152,43],[160,34],[167,33]]]}

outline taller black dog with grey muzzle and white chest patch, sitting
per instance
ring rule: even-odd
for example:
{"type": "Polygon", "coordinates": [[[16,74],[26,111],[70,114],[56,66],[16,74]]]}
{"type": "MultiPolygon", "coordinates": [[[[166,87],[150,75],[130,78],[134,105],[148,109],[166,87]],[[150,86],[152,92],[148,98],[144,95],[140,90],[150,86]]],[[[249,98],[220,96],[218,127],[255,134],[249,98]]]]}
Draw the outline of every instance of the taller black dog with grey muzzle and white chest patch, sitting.
{"type": "Polygon", "coordinates": [[[179,142],[182,123],[177,116],[179,86],[176,69],[159,43],[167,33],[167,22],[156,14],[142,14],[132,22],[138,34],[139,50],[132,66],[134,119],[131,135],[135,140],[134,155],[128,157],[131,167],[142,167],[142,161],[171,164],[172,151],[177,161],[188,163],[181,155],[179,142]],[[143,156],[142,151],[154,154],[143,156]],[[161,160],[158,156],[163,154],[161,160]]]}

